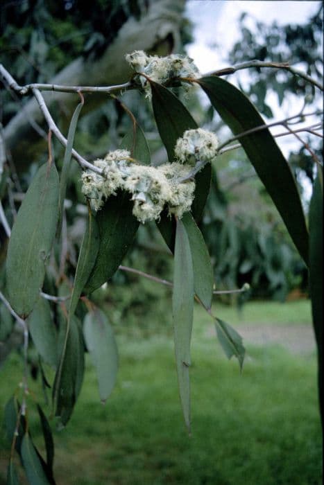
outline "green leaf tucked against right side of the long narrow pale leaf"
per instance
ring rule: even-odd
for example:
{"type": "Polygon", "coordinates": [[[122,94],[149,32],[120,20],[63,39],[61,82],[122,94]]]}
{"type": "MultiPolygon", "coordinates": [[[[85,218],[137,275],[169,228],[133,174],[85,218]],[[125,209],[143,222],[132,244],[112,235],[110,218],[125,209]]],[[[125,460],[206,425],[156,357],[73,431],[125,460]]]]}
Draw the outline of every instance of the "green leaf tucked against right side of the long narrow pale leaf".
{"type": "Polygon", "coordinates": [[[210,255],[203,234],[199,230],[191,213],[184,214],[182,222],[185,226],[191,249],[192,265],[194,267],[194,290],[197,297],[203,303],[203,306],[207,310],[210,310],[214,286],[210,255]]]}

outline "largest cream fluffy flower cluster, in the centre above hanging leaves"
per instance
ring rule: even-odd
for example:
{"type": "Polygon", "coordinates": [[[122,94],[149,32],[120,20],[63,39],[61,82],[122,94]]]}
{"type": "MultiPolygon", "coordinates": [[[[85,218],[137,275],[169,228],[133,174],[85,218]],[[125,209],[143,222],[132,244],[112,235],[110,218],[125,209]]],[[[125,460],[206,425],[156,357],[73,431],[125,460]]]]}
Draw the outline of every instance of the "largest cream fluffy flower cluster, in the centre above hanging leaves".
{"type": "Polygon", "coordinates": [[[137,165],[128,150],[115,150],[104,159],[94,161],[103,175],[85,170],[82,191],[89,198],[94,211],[103,206],[110,195],[119,189],[132,194],[133,214],[139,222],[157,220],[165,205],[169,213],[181,218],[189,211],[194,200],[195,182],[179,183],[189,175],[189,167],[182,164],[164,164],[158,167],[137,165]]]}

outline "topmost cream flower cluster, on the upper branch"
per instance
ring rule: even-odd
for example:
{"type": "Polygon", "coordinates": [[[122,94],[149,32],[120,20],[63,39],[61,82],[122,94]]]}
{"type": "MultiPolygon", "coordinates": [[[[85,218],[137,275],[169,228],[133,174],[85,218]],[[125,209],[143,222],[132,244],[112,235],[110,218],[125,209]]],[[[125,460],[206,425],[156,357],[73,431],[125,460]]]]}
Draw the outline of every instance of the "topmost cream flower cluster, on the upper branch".
{"type": "MultiPolygon", "coordinates": [[[[134,51],[126,55],[126,61],[137,73],[144,73],[159,84],[166,84],[172,78],[198,78],[199,72],[194,61],[187,55],[171,54],[164,58],[157,55],[146,55],[144,51],[134,51]]],[[[151,96],[151,88],[146,78],[139,77],[146,91],[151,96]]]]}

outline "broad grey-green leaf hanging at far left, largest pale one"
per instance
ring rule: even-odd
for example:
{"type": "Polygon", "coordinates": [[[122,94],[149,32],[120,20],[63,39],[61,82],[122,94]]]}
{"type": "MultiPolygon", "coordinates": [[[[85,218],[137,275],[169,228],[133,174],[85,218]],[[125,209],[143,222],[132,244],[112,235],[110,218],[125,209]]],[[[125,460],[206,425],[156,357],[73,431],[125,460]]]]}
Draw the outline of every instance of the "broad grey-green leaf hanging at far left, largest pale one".
{"type": "Polygon", "coordinates": [[[8,246],[8,299],[21,317],[35,306],[45,276],[58,222],[58,173],[54,164],[40,167],[20,206],[8,246]]]}

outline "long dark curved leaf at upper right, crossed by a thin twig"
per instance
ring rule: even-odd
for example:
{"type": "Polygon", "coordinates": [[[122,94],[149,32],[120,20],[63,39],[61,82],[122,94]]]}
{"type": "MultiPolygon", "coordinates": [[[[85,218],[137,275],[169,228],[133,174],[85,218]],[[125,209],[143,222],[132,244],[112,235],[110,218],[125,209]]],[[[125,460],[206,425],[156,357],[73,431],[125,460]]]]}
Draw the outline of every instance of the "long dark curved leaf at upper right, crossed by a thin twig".
{"type": "MultiPolygon", "coordinates": [[[[223,121],[237,135],[264,125],[250,100],[229,82],[216,76],[199,80],[223,121]]],[[[296,180],[268,129],[242,136],[239,141],[277,207],[300,256],[308,262],[308,231],[296,180]]]]}

